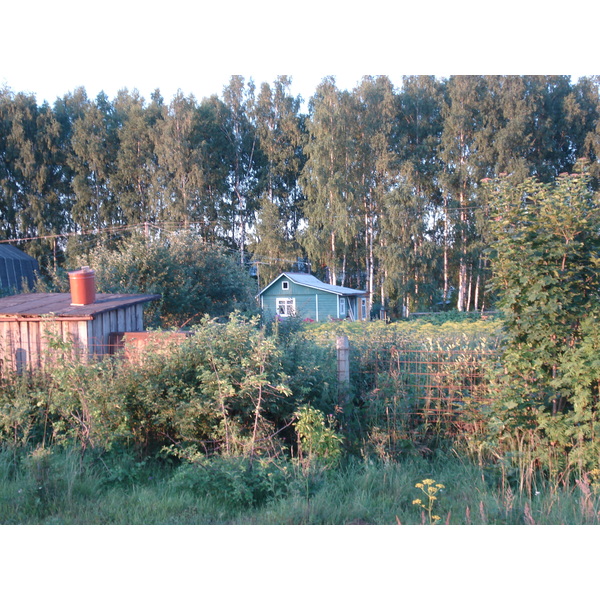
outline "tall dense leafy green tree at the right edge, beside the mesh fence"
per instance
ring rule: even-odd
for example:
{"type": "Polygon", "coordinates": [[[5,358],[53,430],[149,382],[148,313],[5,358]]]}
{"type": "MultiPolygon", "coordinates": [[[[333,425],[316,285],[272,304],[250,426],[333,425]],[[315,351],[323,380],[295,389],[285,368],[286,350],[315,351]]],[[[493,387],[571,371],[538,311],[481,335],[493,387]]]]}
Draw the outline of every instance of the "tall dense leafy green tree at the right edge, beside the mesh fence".
{"type": "Polygon", "coordinates": [[[531,463],[550,472],[591,468],[600,449],[600,207],[582,175],[505,178],[491,198],[492,285],[506,332],[496,444],[529,440],[531,463]]]}

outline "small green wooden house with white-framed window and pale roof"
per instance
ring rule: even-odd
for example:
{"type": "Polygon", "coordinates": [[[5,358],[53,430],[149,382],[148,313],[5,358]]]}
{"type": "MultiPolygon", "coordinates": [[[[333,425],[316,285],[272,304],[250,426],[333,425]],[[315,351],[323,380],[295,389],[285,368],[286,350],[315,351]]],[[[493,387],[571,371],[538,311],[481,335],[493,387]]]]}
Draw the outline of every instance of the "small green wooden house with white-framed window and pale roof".
{"type": "Polygon", "coordinates": [[[258,294],[267,318],[367,319],[367,292],[323,283],[306,273],[282,273],[258,294]]]}

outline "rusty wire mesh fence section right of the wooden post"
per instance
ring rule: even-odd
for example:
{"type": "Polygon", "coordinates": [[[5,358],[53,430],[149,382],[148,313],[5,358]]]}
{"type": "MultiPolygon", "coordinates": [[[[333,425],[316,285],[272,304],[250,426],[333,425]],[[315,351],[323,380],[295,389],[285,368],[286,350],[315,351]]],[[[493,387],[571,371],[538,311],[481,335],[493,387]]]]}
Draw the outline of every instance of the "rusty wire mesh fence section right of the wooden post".
{"type": "Polygon", "coordinates": [[[471,435],[491,402],[499,354],[489,347],[427,349],[386,344],[356,349],[353,385],[371,430],[392,445],[430,435],[471,435]]]}

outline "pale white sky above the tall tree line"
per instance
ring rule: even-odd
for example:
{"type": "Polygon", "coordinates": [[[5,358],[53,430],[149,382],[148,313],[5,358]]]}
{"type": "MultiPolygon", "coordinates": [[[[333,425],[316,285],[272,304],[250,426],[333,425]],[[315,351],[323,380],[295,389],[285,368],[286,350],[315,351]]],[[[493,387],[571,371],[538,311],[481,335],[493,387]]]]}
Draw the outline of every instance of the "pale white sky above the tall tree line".
{"type": "Polygon", "coordinates": [[[587,9],[594,18],[579,19],[565,47],[568,21],[546,2],[473,6],[476,12],[462,0],[11,2],[2,8],[0,87],[51,104],[79,86],[92,98],[127,88],[149,100],[159,88],[166,100],[178,90],[201,99],[221,95],[233,74],[257,85],[286,74],[292,93],[307,100],[327,75],[351,89],[366,74],[399,86],[414,74],[598,70],[599,9],[587,9]]]}

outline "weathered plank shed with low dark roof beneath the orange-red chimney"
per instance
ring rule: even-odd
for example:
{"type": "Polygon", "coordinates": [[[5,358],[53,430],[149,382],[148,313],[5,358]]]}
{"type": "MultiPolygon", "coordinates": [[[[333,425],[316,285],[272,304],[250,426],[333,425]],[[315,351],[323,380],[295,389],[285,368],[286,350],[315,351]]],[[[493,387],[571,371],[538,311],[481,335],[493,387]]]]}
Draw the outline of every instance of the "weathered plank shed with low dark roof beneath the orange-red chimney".
{"type": "MultiPolygon", "coordinates": [[[[96,294],[91,304],[72,304],[70,293],[0,298],[0,371],[35,369],[52,361],[55,341],[72,343],[83,358],[111,352],[111,333],[144,330],[143,305],[155,294],[96,294]]],[[[55,357],[57,354],[55,354],[55,357]]]]}

